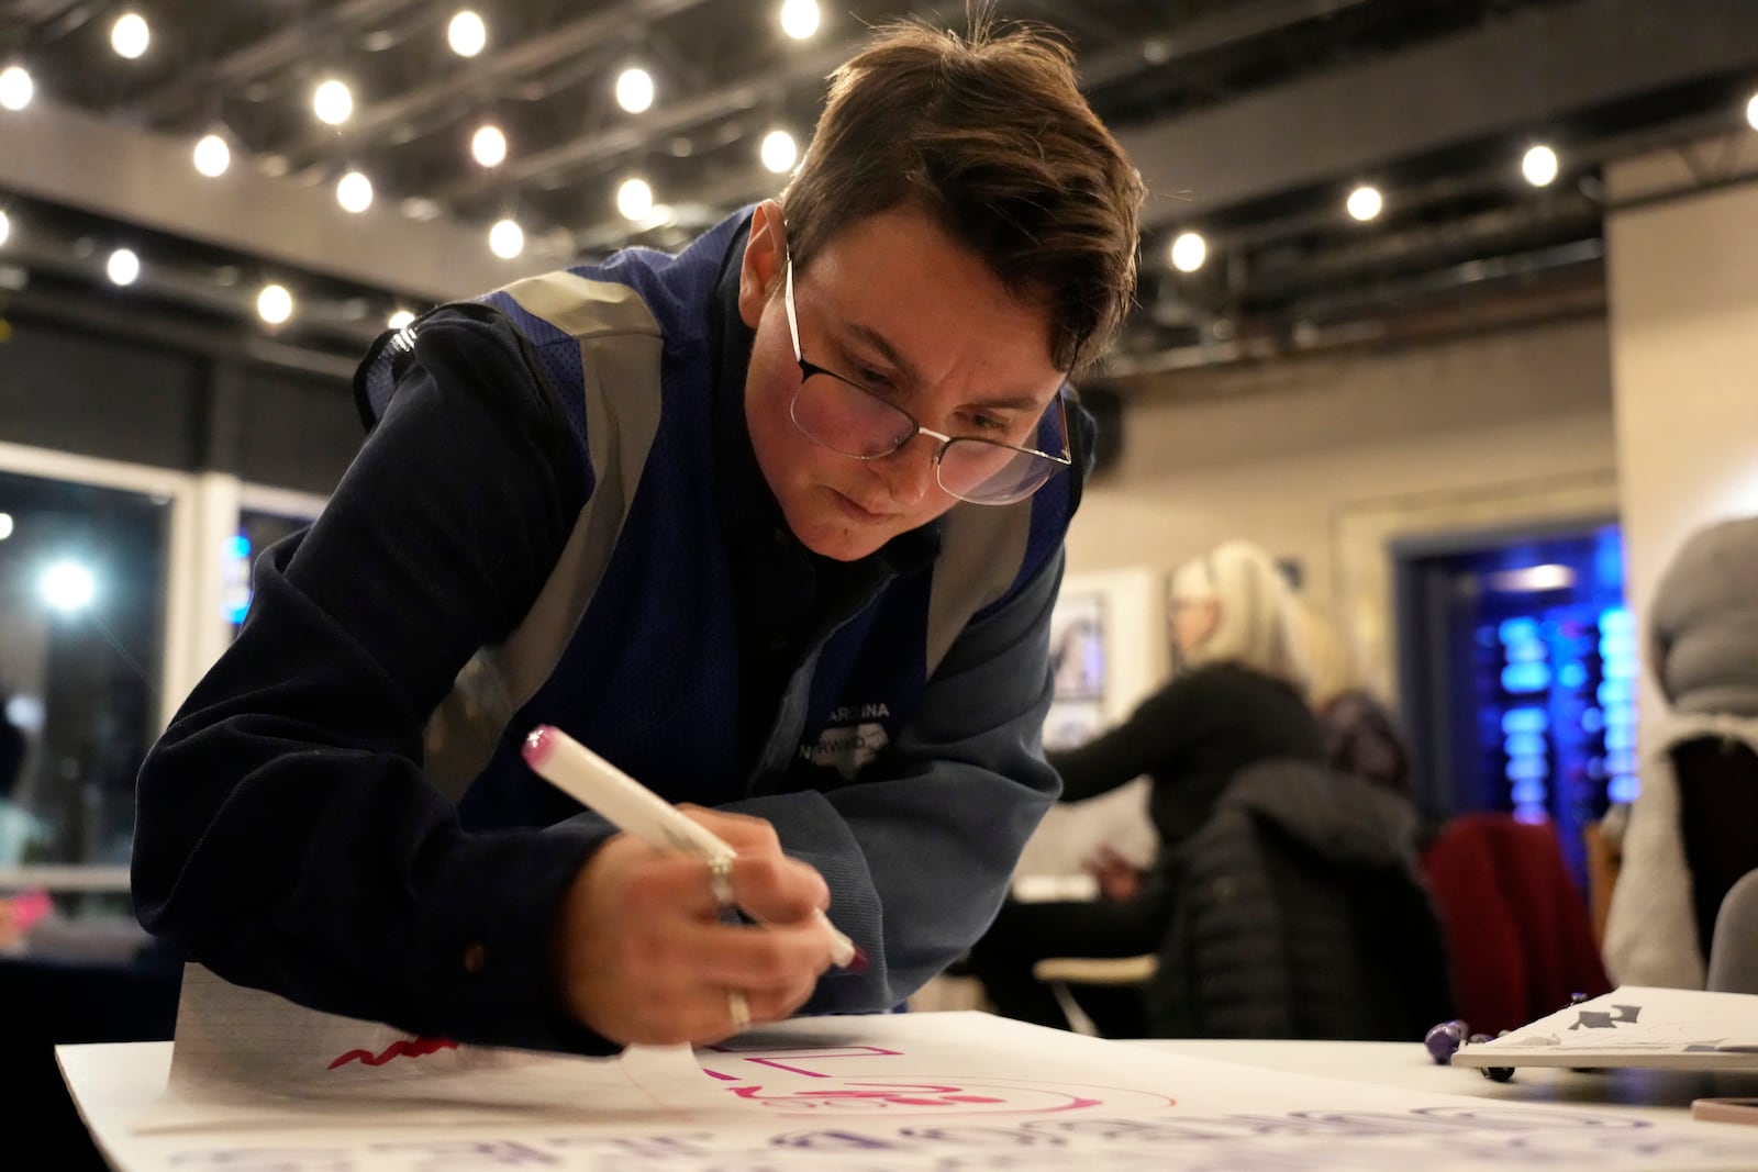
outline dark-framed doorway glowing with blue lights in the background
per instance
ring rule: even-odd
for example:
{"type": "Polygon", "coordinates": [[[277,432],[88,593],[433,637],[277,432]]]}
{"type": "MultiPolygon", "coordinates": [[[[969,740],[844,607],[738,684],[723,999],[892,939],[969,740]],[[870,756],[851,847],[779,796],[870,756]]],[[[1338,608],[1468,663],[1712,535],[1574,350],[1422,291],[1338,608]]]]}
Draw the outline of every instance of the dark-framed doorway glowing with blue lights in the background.
{"type": "Polygon", "coordinates": [[[1394,546],[1401,708],[1431,817],[1503,810],[1582,833],[1635,796],[1637,634],[1616,522],[1394,546]]]}

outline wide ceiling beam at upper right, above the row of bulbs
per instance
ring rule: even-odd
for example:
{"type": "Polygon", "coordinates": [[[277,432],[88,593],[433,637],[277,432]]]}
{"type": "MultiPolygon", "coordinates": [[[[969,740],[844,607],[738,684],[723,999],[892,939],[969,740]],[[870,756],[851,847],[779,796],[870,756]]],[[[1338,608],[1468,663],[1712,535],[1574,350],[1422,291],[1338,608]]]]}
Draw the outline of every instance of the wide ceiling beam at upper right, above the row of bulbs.
{"type": "Polygon", "coordinates": [[[1758,0],[1579,0],[1118,137],[1159,228],[1740,69],[1758,69],[1758,0]]]}

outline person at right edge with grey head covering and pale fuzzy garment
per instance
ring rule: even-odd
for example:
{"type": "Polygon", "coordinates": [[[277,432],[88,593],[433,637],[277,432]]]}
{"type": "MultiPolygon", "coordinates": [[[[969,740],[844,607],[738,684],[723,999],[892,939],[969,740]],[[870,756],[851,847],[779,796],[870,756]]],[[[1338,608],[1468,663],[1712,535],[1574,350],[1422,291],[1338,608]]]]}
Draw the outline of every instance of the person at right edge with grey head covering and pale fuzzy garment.
{"type": "Polygon", "coordinates": [[[1758,517],[1691,532],[1647,608],[1667,701],[1642,745],[1605,919],[1616,984],[1702,989],[1721,900],[1758,866],[1758,517]]]}

